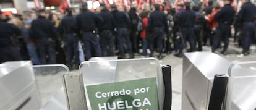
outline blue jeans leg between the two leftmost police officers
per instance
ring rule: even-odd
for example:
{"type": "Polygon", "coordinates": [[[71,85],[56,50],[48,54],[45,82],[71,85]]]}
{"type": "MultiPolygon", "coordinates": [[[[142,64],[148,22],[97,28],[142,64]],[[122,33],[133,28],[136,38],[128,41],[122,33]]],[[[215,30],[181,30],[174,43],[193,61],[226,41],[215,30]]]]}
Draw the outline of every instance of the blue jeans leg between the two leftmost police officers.
{"type": "Polygon", "coordinates": [[[31,57],[32,63],[33,64],[40,64],[40,61],[38,59],[38,55],[35,50],[35,44],[33,43],[27,43],[27,49],[28,49],[28,54],[31,57]]]}

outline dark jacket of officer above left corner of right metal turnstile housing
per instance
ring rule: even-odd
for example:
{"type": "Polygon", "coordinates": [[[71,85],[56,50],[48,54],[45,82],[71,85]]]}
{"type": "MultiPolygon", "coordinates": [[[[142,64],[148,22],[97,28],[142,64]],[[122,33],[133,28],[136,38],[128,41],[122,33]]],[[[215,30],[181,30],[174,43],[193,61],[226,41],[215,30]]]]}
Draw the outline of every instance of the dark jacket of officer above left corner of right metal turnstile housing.
{"type": "Polygon", "coordinates": [[[179,24],[181,25],[181,28],[193,28],[195,19],[195,12],[191,9],[186,9],[180,15],[179,24]]]}

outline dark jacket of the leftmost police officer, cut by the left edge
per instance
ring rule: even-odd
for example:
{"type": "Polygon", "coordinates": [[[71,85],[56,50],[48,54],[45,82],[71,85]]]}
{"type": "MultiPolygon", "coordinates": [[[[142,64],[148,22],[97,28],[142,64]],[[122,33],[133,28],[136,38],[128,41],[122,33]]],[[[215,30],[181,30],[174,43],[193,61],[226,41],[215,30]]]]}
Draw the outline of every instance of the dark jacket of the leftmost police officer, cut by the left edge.
{"type": "Polygon", "coordinates": [[[12,46],[12,37],[21,35],[21,30],[15,25],[0,21],[0,48],[12,46]]]}

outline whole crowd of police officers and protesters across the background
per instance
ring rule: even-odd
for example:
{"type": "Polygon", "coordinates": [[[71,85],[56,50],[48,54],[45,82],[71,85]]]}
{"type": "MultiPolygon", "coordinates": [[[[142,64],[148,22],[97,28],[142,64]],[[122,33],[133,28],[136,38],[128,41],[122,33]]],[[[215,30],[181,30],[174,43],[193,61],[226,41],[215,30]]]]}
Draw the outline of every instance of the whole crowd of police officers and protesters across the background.
{"type": "Polygon", "coordinates": [[[77,14],[72,8],[64,15],[45,9],[9,17],[0,12],[0,63],[31,59],[33,64],[72,67],[91,57],[155,57],[154,51],[158,59],[173,51],[182,57],[184,49],[203,51],[203,46],[211,46],[213,53],[223,48],[221,53],[226,54],[231,37],[246,56],[255,41],[256,7],[242,0],[241,10],[236,11],[231,2],[224,0],[223,7],[213,1],[208,6],[184,2],[177,8],[163,3],[145,5],[143,10],[132,2],[129,11],[124,6],[100,4],[95,12],[83,2],[77,14]]]}

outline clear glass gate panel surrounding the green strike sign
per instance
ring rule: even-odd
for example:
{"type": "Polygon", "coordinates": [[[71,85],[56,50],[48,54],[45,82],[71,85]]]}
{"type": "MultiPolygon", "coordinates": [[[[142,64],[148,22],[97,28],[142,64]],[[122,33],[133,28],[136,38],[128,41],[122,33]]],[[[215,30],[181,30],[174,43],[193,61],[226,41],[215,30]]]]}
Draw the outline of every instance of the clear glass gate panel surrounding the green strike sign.
{"type": "MultiPolygon", "coordinates": [[[[156,79],[158,79],[159,66],[159,61],[155,58],[106,60],[104,57],[98,57],[93,61],[82,62],[79,70],[83,74],[88,109],[90,110],[91,106],[90,101],[88,101],[86,86],[142,78],[157,77],[156,79]]],[[[161,78],[163,82],[163,77],[161,78]]]]}

